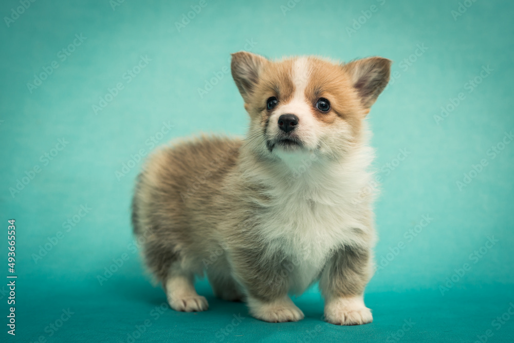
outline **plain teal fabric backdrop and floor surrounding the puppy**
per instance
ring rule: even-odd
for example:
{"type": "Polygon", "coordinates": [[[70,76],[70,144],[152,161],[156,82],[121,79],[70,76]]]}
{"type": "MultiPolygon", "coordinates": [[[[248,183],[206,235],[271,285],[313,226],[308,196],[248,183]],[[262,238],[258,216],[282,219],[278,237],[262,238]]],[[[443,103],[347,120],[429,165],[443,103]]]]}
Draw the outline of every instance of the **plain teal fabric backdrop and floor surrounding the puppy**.
{"type": "MultiPolygon", "coordinates": [[[[472,5],[454,18],[454,0],[207,1],[179,32],[175,23],[198,3],[125,1],[113,8],[107,0],[39,0],[9,26],[4,17],[20,2],[0,4],[0,228],[16,220],[18,276],[15,339],[6,333],[7,279],[0,281],[0,341],[126,342],[143,325],[135,341],[512,342],[514,144],[494,158],[490,149],[514,129],[514,5],[468,0],[472,5]],[[87,38],[61,61],[59,51],[76,34],[87,38]],[[244,304],[213,298],[205,280],[198,292],[209,311],[164,307],[156,315],[166,298],[131,245],[129,206],[141,161],[122,177],[116,173],[141,149],[151,150],[163,122],[173,128],[157,135],[158,144],[199,131],[244,134],[243,101],[222,70],[247,41],[270,58],[380,55],[395,62],[394,82],[369,115],[382,178],[376,256],[383,267],[366,290],[374,310],[369,325],[323,322],[316,288],[295,299],[304,320],[265,323],[244,304]],[[123,75],[141,55],[151,61],[128,83],[123,75]],[[58,68],[31,92],[27,83],[52,61],[58,68]],[[487,66],[492,71],[469,92],[469,80],[487,66]],[[223,78],[200,97],[198,88],[216,73],[223,78]],[[95,114],[92,106],[117,83],[124,88],[95,114]],[[437,122],[440,107],[456,103],[461,92],[460,104],[437,122]],[[55,153],[63,138],[69,144],[44,165],[44,154],[55,153]],[[396,161],[400,149],[408,156],[396,161]],[[460,190],[456,182],[483,159],[487,165],[460,190]],[[9,188],[36,165],[40,173],[12,196],[9,188]],[[67,226],[81,205],[90,211],[67,226]],[[427,215],[433,219],[410,239],[427,215]],[[488,237],[498,240],[490,249],[488,237]],[[57,244],[34,261],[49,240],[57,244]],[[100,284],[98,275],[123,258],[100,284]],[[442,289],[452,276],[455,282],[442,289]],[[69,320],[49,329],[68,308],[69,320]],[[244,319],[232,327],[234,314],[244,319]],[[493,320],[502,315],[509,319],[498,327],[493,320]]],[[[2,278],[9,274],[6,236],[0,235],[2,278]]]]}

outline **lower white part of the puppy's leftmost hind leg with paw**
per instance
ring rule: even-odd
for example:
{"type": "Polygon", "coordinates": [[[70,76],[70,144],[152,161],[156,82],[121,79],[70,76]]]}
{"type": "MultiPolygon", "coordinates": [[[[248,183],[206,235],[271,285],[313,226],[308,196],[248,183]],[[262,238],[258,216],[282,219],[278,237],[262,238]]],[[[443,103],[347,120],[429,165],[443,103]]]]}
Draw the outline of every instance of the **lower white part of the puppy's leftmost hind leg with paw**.
{"type": "Polygon", "coordinates": [[[172,265],[164,282],[164,290],[172,309],[183,312],[200,312],[209,308],[207,299],[196,293],[193,281],[193,273],[182,270],[178,262],[172,265]]]}

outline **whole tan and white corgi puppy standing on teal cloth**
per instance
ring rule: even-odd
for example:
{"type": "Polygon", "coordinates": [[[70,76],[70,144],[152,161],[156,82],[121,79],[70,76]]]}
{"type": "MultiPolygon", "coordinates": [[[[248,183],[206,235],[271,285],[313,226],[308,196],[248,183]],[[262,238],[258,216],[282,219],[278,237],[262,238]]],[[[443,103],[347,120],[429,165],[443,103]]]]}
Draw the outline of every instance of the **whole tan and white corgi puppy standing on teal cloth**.
{"type": "Polygon", "coordinates": [[[391,61],[232,54],[250,117],[245,139],[203,136],[164,147],[139,175],[134,232],[176,311],[205,311],[195,276],[255,318],[297,321],[289,298],[319,281],[324,318],[373,320],[373,174],[366,115],[391,61]]]}

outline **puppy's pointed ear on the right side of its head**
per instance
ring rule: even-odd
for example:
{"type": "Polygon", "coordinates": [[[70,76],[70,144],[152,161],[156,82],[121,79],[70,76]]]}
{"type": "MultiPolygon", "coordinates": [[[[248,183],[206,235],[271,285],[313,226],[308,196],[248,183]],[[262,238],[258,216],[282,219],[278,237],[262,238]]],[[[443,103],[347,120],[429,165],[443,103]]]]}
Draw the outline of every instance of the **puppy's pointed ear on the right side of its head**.
{"type": "Polygon", "coordinates": [[[389,82],[391,60],[370,57],[343,65],[365,108],[370,108],[389,82]]]}

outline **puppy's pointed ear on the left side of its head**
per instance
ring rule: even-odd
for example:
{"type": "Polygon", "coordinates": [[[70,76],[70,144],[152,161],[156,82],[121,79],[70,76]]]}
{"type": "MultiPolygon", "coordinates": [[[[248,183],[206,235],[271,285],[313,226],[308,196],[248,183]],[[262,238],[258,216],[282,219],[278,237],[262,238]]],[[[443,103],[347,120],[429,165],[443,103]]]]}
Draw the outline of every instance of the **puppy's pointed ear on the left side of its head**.
{"type": "Polygon", "coordinates": [[[232,54],[230,69],[232,78],[245,100],[249,102],[255,85],[259,81],[259,76],[263,67],[268,63],[263,56],[254,53],[240,51],[232,54]]]}

